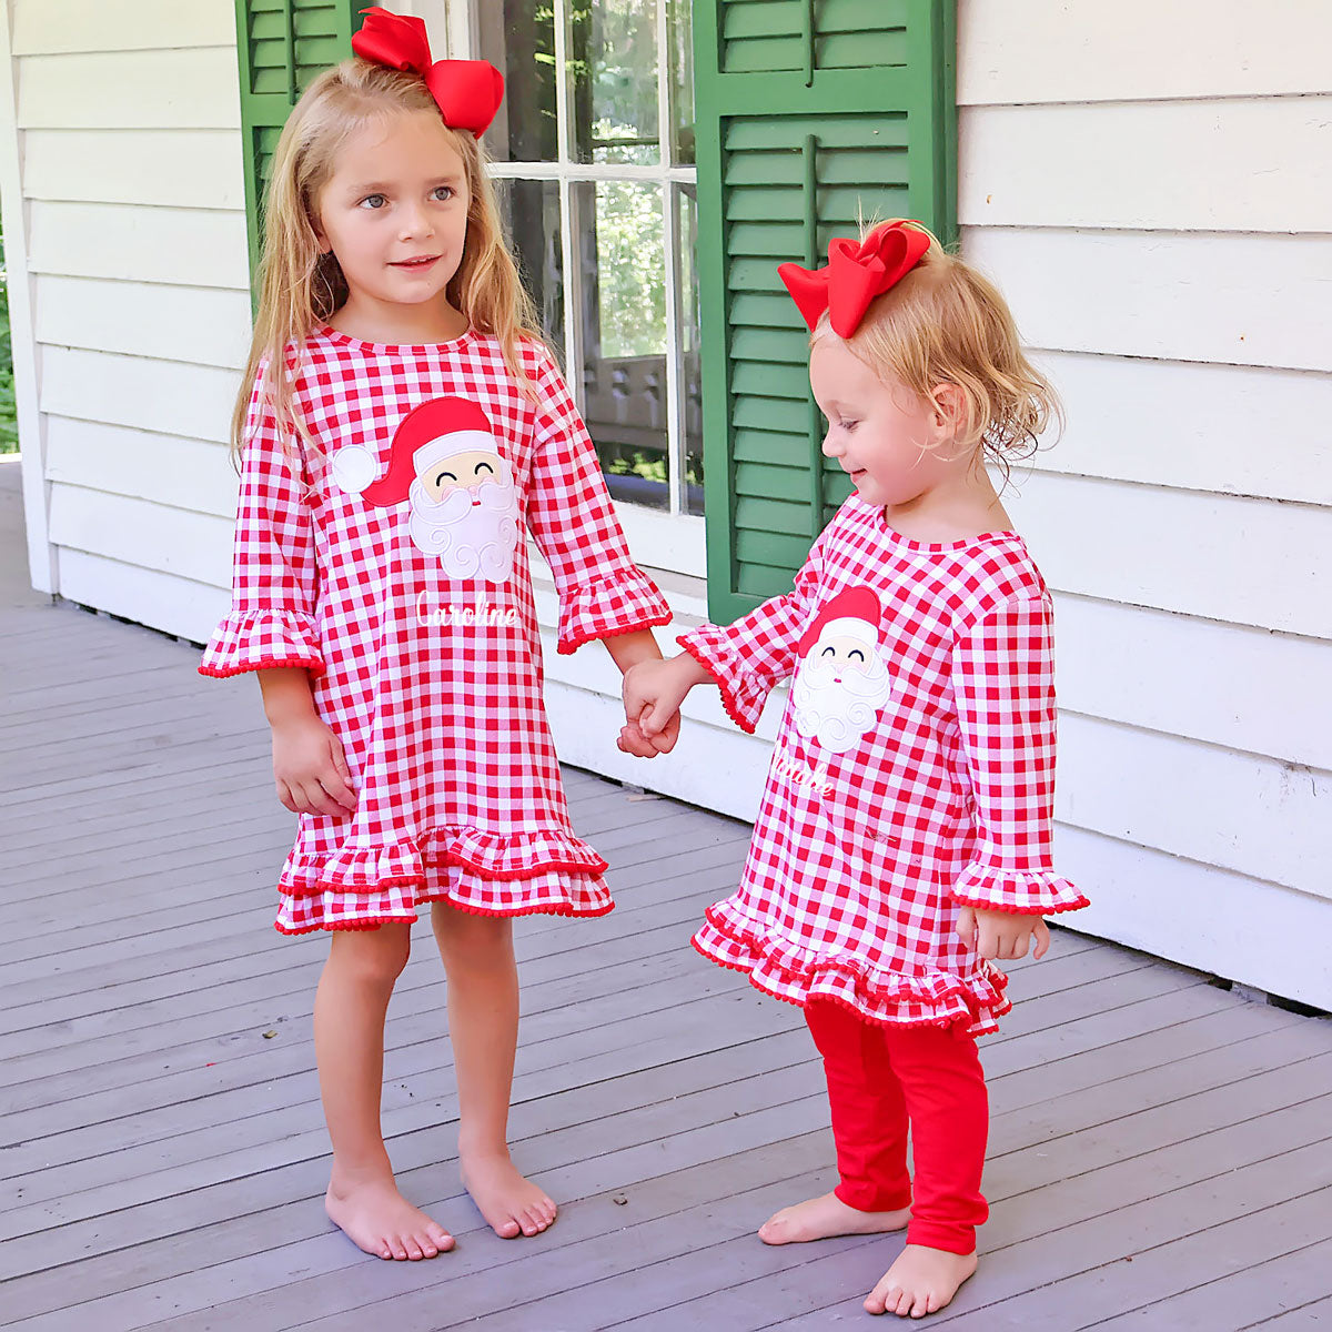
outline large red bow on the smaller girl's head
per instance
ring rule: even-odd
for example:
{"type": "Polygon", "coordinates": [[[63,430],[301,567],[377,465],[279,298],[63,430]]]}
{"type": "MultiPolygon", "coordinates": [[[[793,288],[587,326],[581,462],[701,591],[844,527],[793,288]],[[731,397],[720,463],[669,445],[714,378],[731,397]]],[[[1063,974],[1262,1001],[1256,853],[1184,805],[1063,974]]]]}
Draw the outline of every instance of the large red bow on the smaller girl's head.
{"type": "Polygon", "coordinates": [[[930,234],[919,222],[898,218],[875,226],[863,241],[844,237],[829,241],[826,268],[781,264],[777,273],[810,332],[827,310],[832,332],[850,337],[860,326],[870,301],[900,282],[928,248],[930,234]]]}

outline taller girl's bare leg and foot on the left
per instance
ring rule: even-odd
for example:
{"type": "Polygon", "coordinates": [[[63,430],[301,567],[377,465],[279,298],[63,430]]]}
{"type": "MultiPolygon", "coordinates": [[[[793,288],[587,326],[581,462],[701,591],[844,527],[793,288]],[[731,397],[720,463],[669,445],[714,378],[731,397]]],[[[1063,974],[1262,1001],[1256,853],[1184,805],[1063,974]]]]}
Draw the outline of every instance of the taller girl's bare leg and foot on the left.
{"type": "Polygon", "coordinates": [[[380,1131],[384,1015],[409,948],[406,924],[336,931],[314,996],[314,1055],[333,1142],[324,1205],[366,1253],[397,1259],[453,1248],[453,1236],[398,1192],[380,1131]]]}

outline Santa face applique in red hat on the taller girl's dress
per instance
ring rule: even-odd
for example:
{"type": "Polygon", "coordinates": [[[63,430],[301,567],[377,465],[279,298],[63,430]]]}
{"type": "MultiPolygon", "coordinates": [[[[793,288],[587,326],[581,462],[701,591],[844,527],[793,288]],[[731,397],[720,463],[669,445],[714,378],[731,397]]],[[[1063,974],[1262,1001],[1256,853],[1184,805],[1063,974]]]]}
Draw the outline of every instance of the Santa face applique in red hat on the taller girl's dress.
{"type": "Polygon", "coordinates": [[[360,445],[333,456],[333,480],[366,503],[412,501],[408,535],[438,555],[450,578],[503,583],[518,549],[518,492],[490,421],[466,398],[432,398],[398,424],[389,469],[374,481],[377,460],[360,445]]]}

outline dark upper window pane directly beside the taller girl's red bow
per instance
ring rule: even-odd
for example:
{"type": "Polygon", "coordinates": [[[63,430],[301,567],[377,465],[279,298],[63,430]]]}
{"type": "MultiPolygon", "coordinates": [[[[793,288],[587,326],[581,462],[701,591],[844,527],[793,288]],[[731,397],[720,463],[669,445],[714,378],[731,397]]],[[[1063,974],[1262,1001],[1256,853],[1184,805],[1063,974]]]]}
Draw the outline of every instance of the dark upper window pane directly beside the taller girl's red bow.
{"type": "Polygon", "coordinates": [[[496,161],[553,163],[555,145],[555,13],[551,0],[486,0],[477,5],[481,57],[505,81],[486,131],[496,161]]]}

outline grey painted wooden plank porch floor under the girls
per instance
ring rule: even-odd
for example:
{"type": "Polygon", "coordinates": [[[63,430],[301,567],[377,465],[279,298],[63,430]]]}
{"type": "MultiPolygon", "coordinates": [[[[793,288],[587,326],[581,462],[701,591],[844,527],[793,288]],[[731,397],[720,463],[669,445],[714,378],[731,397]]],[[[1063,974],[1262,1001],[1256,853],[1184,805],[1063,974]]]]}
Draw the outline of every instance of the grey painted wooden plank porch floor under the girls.
{"type": "MultiPolygon", "coordinates": [[[[257,691],[188,645],[27,590],[0,464],[0,1324],[635,1332],[868,1325],[895,1237],[771,1249],[830,1187],[799,1014],[699,959],[747,830],[569,771],[619,908],[518,928],[513,1138],[563,1204],[486,1231],[457,1180],[429,935],[389,1023],[405,1191],[458,1235],[364,1257],[324,1217],[318,939],[270,928],[289,818],[257,691]]],[[[959,1329],[1332,1328],[1332,1023],[1059,931],[984,1043],[992,1219],[959,1329]]],[[[882,1325],[882,1324],[878,1324],[882,1325]]]]}

